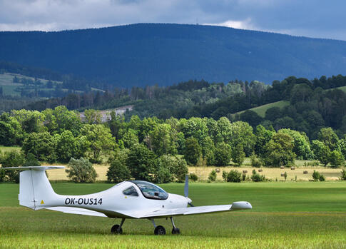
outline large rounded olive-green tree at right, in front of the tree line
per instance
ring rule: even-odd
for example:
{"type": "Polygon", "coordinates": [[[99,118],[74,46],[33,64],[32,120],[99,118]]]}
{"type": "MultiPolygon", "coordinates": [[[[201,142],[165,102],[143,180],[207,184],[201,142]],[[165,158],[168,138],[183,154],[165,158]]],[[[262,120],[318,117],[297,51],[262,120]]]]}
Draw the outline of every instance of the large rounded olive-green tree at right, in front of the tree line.
{"type": "Polygon", "coordinates": [[[295,153],[293,138],[285,133],[276,133],[267,144],[267,151],[262,156],[265,166],[280,167],[294,164],[295,153]]]}

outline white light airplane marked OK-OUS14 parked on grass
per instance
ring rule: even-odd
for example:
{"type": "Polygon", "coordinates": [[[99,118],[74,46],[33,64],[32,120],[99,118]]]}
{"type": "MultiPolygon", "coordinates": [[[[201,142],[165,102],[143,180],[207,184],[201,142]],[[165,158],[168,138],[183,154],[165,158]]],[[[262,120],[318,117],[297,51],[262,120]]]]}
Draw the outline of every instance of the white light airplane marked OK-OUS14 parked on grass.
{"type": "Polygon", "coordinates": [[[121,218],[120,225],[113,225],[111,233],[123,233],[125,219],[148,219],[154,225],[156,235],[165,235],[166,229],[156,225],[156,218],[171,218],[172,233],[179,234],[173,216],[216,213],[252,208],[245,201],[230,205],[204,205],[195,207],[188,198],[188,176],[185,179],[185,196],[166,193],[165,190],[146,181],[123,181],[107,190],[90,195],[58,195],[54,192],[46,170],[63,166],[11,167],[6,170],[22,171],[19,175],[19,205],[34,210],[49,209],[63,213],[121,218]],[[188,208],[188,205],[191,207],[188,208]]]}

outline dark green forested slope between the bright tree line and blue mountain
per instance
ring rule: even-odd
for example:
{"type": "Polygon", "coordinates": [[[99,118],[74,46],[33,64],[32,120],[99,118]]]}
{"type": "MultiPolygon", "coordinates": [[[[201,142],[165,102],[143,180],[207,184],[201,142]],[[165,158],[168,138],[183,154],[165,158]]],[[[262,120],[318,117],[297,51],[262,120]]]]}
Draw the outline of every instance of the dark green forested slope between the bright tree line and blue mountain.
{"type": "Polygon", "coordinates": [[[308,80],[290,76],[266,85],[259,81],[230,81],[208,83],[186,81],[173,86],[115,88],[105,93],[70,94],[31,103],[26,108],[44,110],[59,105],[82,111],[86,108],[108,109],[133,104],[133,111],[125,113],[126,121],[137,115],[143,119],[227,117],[230,121],[246,121],[255,128],[273,126],[275,131],[290,128],[302,131],[309,138],[317,138],[320,128],[331,127],[338,136],[346,132],[346,76],[321,76],[308,80]],[[249,110],[275,101],[288,101],[282,108],[268,108],[265,116],[249,110]],[[242,112],[243,111],[243,112],[242,112]],[[239,113],[241,112],[241,113],[239,113]]]}

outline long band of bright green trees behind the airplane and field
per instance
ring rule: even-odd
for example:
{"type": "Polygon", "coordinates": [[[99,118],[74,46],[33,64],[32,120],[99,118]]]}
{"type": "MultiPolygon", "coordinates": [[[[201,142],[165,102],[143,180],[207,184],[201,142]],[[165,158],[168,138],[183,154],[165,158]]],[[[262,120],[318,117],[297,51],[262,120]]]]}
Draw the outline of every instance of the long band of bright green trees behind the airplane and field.
{"type": "MultiPolygon", "coordinates": [[[[289,128],[254,129],[226,117],[168,118],[166,120],[111,113],[101,123],[100,113],[87,110],[83,121],[65,106],[44,111],[11,111],[0,116],[0,144],[21,146],[24,156],[38,161],[68,163],[85,158],[110,164],[109,181],[138,178],[154,182],[183,181],[187,166],[241,166],[245,156],[255,167],[292,166],[295,159],[315,159],[340,166],[346,138],[332,128],[321,128],[317,139],[289,128]],[[113,172],[113,173],[112,173],[113,172]],[[115,172],[115,173],[114,173],[115,172]]],[[[8,158],[4,153],[2,158],[8,158]]],[[[13,155],[10,157],[14,157],[13,155]]]]}

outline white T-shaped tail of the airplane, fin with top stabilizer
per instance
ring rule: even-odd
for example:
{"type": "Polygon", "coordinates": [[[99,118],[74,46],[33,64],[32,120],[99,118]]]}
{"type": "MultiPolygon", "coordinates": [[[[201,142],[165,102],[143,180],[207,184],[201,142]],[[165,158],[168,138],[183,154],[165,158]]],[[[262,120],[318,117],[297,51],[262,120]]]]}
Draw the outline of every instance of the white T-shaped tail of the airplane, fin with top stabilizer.
{"type": "MultiPolygon", "coordinates": [[[[49,202],[55,197],[56,193],[51,188],[46,176],[47,169],[65,168],[63,166],[39,166],[39,167],[11,167],[2,168],[7,170],[23,171],[19,175],[19,205],[38,210],[43,208],[37,204],[49,202]]],[[[44,207],[46,208],[46,207],[44,207]]]]}

